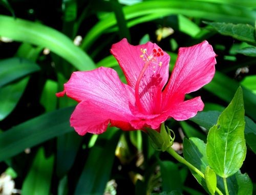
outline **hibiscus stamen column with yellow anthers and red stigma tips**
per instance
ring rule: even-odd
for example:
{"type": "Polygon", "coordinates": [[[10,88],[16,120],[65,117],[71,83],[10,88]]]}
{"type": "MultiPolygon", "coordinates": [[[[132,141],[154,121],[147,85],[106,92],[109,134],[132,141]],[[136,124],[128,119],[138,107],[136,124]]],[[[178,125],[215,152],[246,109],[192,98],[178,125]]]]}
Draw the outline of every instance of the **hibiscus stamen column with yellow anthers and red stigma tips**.
{"type": "Polygon", "coordinates": [[[135,100],[136,100],[136,105],[137,105],[137,107],[139,108],[139,110],[140,110],[141,112],[145,112],[145,110],[144,110],[144,108],[143,108],[143,106],[141,105],[141,102],[140,102],[140,95],[139,95],[139,86],[140,86],[140,82],[141,82],[141,80],[142,80],[142,77],[143,77],[143,75],[144,75],[144,73],[145,73],[147,67],[148,67],[150,64],[152,64],[152,67],[153,67],[153,69],[154,69],[154,70],[153,70],[154,73],[156,72],[156,70],[155,70],[156,65],[162,66],[162,62],[161,62],[161,61],[158,62],[158,59],[157,59],[157,58],[160,57],[160,56],[163,56],[164,53],[162,52],[162,50],[161,50],[160,48],[158,48],[158,49],[154,48],[154,49],[153,49],[153,52],[152,52],[150,55],[148,55],[146,48],[144,48],[144,49],[141,48],[140,50],[141,50],[141,52],[142,52],[142,54],[140,55],[140,57],[141,57],[142,60],[144,61],[144,65],[143,65],[143,67],[142,67],[142,70],[141,70],[141,72],[140,72],[140,75],[139,75],[139,77],[138,77],[138,79],[137,79],[137,82],[136,82],[136,85],[135,85],[135,100]]]}

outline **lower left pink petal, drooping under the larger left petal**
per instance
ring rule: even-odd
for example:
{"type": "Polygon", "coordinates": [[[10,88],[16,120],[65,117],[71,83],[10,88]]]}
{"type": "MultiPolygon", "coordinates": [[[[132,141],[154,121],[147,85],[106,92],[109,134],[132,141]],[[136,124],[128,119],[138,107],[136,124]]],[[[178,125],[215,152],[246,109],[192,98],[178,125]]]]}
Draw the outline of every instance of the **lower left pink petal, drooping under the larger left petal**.
{"type": "Polygon", "coordinates": [[[105,108],[103,103],[80,102],[70,118],[70,124],[79,135],[86,133],[101,134],[106,131],[110,121],[112,126],[122,130],[134,130],[128,123],[129,115],[115,109],[105,108]]]}

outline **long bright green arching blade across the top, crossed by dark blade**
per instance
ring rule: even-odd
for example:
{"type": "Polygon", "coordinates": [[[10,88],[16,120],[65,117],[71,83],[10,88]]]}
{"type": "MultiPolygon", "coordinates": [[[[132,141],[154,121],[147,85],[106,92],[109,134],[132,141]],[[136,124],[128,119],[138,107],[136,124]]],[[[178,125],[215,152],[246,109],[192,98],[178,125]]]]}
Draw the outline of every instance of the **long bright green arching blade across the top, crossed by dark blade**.
{"type": "MultiPolygon", "coordinates": [[[[236,5],[216,4],[197,1],[145,1],[132,6],[123,7],[128,27],[151,21],[164,16],[182,14],[188,17],[204,18],[216,21],[254,23],[255,11],[236,5]],[[222,9],[220,9],[222,8],[222,9]]],[[[93,42],[106,30],[116,25],[114,14],[101,19],[84,37],[81,47],[88,50],[93,42]]]]}

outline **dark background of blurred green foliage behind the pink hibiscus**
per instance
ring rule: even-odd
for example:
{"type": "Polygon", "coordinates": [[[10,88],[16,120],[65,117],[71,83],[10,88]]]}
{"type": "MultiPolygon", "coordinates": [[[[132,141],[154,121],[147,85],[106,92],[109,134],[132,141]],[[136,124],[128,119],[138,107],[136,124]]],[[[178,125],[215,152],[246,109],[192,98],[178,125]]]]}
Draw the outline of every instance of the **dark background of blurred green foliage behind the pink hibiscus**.
{"type": "MultiPolygon", "coordinates": [[[[182,153],[184,137],[206,140],[242,85],[248,150],[241,172],[255,186],[255,19],[254,0],[0,0],[2,192],[205,194],[188,168],[155,151],[143,132],[109,128],[81,137],[70,127],[77,103],[55,93],[73,71],[99,66],[114,68],[125,82],[110,54],[123,37],[134,45],[156,42],[171,56],[170,71],[179,47],[208,40],[218,54],[215,78],[187,95],[201,95],[204,112],[166,125],[175,131],[182,153]]],[[[236,178],[232,182],[230,194],[246,194],[238,192],[236,178]]],[[[251,183],[245,188],[252,190],[251,183]]]]}

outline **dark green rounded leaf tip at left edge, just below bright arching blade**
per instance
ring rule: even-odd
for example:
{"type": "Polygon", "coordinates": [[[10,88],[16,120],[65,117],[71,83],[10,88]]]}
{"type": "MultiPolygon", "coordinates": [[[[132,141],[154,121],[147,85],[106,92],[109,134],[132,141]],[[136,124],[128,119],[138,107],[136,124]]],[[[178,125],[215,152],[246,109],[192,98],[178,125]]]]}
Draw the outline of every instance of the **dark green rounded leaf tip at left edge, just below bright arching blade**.
{"type": "Polygon", "coordinates": [[[40,67],[36,63],[24,58],[1,60],[0,87],[38,70],[40,70],[40,67]]]}

